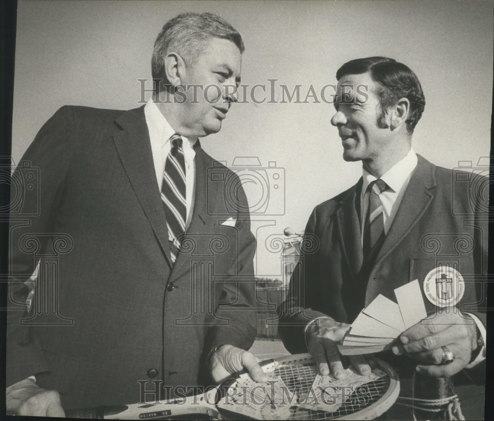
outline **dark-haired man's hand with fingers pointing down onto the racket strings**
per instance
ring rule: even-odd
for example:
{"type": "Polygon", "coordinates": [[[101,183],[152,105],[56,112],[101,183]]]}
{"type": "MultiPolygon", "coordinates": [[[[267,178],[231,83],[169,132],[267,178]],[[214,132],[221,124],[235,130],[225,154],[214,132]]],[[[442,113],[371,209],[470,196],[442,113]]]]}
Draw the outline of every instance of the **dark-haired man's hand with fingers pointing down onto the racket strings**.
{"type": "MultiPolygon", "coordinates": [[[[321,376],[328,376],[331,373],[336,379],[345,377],[337,344],[343,339],[349,327],[350,325],[346,323],[324,317],[311,323],[307,328],[305,333],[307,346],[321,376]]],[[[350,356],[352,365],[362,376],[369,375],[371,367],[375,367],[373,356],[368,356],[368,359],[369,362],[362,355],[350,356]]]]}

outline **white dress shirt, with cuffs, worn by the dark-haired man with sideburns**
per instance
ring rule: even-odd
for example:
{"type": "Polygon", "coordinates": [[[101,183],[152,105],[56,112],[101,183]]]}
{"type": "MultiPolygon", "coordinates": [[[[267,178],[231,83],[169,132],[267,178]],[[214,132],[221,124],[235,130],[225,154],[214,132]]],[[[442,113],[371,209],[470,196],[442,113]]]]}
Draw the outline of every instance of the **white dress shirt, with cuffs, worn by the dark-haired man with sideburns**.
{"type": "MultiPolygon", "coordinates": [[[[403,196],[405,195],[405,191],[407,190],[408,184],[410,183],[410,179],[412,178],[412,172],[417,166],[417,155],[410,149],[408,154],[399,162],[397,162],[393,167],[389,168],[382,176],[381,180],[383,180],[388,188],[379,195],[379,199],[381,200],[382,205],[382,213],[384,217],[384,234],[387,234],[393,220],[396,216],[396,212],[400,207],[400,204],[403,200],[403,196]]],[[[372,174],[370,174],[366,169],[363,168],[363,185],[362,185],[362,193],[360,200],[360,215],[362,221],[362,237],[361,241],[364,239],[364,223],[365,223],[365,215],[367,215],[367,208],[369,207],[369,195],[370,191],[367,191],[367,187],[369,184],[376,180],[372,174]]],[[[475,324],[479,328],[479,331],[482,335],[482,339],[484,340],[484,347],[480,351],[477,358],[472,361],[471,364],[466,366],[466,368],[472,368],[477,365],[481,361],[486,358],[486,328],[480,321],[480,319],[471,313],[466,313],[473,318],[475,324]]],[[[305,332],[307,332],[307,328],[316,320],[321,319],[323,317],[318,317],[307,324],[305,327],[305,332]]]]}

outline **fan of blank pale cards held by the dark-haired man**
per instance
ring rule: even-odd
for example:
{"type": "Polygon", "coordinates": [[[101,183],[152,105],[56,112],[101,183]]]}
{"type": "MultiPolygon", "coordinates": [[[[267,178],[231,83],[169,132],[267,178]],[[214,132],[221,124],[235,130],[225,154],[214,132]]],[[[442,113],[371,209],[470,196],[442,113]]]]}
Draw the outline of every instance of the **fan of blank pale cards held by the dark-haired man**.
{"type": "Polygon", "coordinates": [[[398,303],[379,294],[360,312],[338,344],[342,355],[391,349],[394,339],[427,316],[417,279],[397,288],[395,296],[398,303]]]}

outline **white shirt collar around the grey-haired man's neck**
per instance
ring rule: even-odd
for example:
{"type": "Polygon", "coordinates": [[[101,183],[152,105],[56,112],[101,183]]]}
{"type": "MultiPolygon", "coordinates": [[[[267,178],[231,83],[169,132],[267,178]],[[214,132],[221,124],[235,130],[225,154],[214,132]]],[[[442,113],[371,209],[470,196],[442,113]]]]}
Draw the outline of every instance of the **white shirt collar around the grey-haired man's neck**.
{"type": "MultiPolygon", "coordinates": [[[[163,148],[170,140],[170,137],[176,133],[175,130],[170,126],[168,121],[165,119],[165,116],[158,109],[153,101],[153,98],[150,98],[144,106],[144,115],[149,128],[149,137],[151,140],[152,149],[156,150],[163,148]]],[[[194,149],[196,142],[199,142],[197,138],[192,137],[182,136],[182,139],[184,139],[184,152],[186,150],[194,149]],[[187,142],[185,142],[185,140],[187,140],[187,142]]]]}

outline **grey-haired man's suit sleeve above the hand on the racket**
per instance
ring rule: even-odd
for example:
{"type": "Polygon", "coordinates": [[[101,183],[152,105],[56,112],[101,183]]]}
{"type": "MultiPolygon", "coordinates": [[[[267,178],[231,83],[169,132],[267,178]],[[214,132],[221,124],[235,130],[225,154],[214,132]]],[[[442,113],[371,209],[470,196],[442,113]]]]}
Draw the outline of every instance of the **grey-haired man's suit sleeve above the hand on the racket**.
{"type": "Polygon", "coordinates": [[[220,300],[214,311],[215,317],[228,320],[228,324],[217,324],[208,330],[203,356],[226,344],[247,350],[252,346],[257,334],[253,263],[256,240],[250,231],[247,197],[242,187],[238,190],[236,219],[237,253],[228,271],[230,279],[222,282],[220,300]]]}

